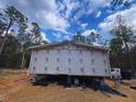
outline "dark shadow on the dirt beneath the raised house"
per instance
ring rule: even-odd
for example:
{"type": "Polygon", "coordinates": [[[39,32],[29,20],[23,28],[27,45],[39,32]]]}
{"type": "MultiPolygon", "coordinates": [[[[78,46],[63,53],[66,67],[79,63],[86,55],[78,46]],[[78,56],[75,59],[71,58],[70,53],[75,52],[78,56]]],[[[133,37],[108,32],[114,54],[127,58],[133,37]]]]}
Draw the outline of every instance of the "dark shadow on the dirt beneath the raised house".
{"type": "Polygon", "coordinates": [[[75,84],[72,81],[71,83],[67,83],[66,82],[66,79],[63,78],[61,80],[60,79],[57,79],[57,78],[43,78],[38,81],[36,81],[36,83],[34,83],[34,86],[48,86],[50,83],[56,83],[58,86],[63,86],[64,88],[73,88],[73,87],[82,87],[82,89],[86,89],[86,88],[90,88],[94,91],[101,91],[101,92],[105,92],[105,93],[111,93],[111,94],[115,94],[115,95],[120,95],[120,97],[125,97],[127,98],[127,95],[121,91],[118,91],[117,89],[114,89],[114,88],[111,88],[109,87],[107,84],[101,87],[99,83],[94,82],[93,84],[92,83],[88,83],[88,82],[81,82],[80,84],[75,84]]]}

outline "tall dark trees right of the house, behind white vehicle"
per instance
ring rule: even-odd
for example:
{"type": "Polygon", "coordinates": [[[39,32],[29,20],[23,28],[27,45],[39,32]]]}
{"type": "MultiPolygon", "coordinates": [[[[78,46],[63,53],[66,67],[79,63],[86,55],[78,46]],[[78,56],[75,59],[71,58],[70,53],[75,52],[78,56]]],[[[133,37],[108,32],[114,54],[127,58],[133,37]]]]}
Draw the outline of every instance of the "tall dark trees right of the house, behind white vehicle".
{"type": "Polygon", "coordinates": [[[136,34],[121,14],[116,15],[114,25],[109,44],[111,66],[136,75],[136,34]]]}

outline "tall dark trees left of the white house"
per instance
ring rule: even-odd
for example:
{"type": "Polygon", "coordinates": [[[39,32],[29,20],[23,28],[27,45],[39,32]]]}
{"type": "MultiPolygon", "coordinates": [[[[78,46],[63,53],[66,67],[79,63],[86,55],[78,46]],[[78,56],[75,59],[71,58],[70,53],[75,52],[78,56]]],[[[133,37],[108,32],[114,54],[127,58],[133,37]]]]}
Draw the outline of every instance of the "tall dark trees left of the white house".
{"type": "Polygon", "coordinates": [[[23,67],[24,55],[26,60],[30,58],[26,48],[42,43],[47,42],[43,41],[36,22],[29,26],[29,19],[12,5],[0,11],[1,67],[23,67]]]}

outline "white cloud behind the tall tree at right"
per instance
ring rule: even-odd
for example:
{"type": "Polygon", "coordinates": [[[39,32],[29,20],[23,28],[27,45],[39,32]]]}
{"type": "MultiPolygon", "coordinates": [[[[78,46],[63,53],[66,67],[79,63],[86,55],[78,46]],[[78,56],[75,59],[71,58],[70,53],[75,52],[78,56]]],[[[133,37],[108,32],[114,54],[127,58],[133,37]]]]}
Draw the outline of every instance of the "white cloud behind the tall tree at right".
{"type": "Polygon", "coordinates": [[[132,30],[136,33],[136,4],[132,5],[129,9],[109,15],[104,22],[100,23],[100,33],[109,34],[111,29],[115,25],[114,21],[117,14],[121,14],[125,19],[126,24],[132,26],[132,30]]]}

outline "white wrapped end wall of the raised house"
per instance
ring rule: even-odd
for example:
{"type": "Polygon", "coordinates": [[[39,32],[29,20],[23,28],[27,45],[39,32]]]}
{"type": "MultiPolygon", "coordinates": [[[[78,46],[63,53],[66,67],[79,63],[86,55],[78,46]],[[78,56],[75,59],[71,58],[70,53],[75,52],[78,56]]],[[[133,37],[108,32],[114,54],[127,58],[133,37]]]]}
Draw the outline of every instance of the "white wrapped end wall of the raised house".
{"type": "Polygon", "coordinates": [[[33,50],[29,72],[109,77],[110,66],[104,52],[66,45],[33,50]]]}

